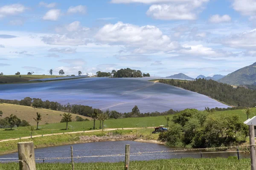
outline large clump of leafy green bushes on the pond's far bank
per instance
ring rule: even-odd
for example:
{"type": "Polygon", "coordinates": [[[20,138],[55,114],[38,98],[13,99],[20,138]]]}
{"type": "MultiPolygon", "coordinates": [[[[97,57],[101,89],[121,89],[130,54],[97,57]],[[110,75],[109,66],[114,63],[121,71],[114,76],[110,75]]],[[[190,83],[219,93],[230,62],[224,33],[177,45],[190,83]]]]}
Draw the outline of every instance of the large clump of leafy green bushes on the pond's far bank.
{"type": "Polygon", "coordinates": [[[170,146],[221,147],[244,143],[248,126],[238,116],[210,114],[196,109],[185,109],[172,118],[167,132],[159,140],[170,146]]]}

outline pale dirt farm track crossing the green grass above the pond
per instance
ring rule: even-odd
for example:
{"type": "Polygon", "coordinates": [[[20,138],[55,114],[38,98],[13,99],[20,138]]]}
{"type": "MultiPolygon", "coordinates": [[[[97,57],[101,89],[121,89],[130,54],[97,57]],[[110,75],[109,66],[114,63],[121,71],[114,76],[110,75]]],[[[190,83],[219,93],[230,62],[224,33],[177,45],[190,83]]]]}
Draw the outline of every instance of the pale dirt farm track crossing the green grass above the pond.
{"type": "MultiPolygon", "coordinates": [[[[105,129],[104,131],[111,131],[111,130],[129,130],[129,129],[140,129],[137,127],[133,127],[133,128],[112,128],[112,129],[105,129]]],[[[102,131],[102,130],[87,130],[87,131],[77,131],[77,132],[67,132],[65,134],[70,134],[70,133],[89,133],[89,132],[98,132],[98,131],[102,131]]],[[[44,136],[52,136],[52,135],[61,135],[63,133],[52,133],[52,134],[44,134],[44,136]]],[[[33,138],[36,137],[41,137],[42,135],[35,135],[32,136],[33,138]]],[[[19,139],[29,139],[31,138],[30,136],[26,136],[26,137],[22,137],[22,138],[16,138],[16,139],[5,139],[5,140],[1,140],[0,142],[8,142],[8,141],[15,141],[15,140],[19,140],[19,139]]]]}

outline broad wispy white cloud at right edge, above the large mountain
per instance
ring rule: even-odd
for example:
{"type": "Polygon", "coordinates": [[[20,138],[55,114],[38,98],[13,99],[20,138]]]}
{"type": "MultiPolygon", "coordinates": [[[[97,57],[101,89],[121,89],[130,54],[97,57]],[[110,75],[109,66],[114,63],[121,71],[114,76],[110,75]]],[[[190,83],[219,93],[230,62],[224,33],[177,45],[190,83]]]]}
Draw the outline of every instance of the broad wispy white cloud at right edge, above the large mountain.
{"type": "Polygon", "coordinates": [[[213,42],[220,43],[233,48],[252,49],[256,48],[256,29],[241,34],[233,34],[213,40],[213,42]]]}

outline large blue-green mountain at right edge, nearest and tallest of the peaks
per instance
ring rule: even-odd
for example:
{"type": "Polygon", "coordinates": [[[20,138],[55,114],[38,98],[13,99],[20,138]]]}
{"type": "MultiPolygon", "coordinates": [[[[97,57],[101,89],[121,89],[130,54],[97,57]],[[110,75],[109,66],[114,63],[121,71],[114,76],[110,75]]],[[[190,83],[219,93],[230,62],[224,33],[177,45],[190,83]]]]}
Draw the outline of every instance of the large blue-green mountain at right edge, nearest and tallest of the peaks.
{"type": "Polygon", "coordinates": [[[256,62],[244,68],[240,68],[218,81],[230,85],[252,85],[256,82],[256,62]]]}

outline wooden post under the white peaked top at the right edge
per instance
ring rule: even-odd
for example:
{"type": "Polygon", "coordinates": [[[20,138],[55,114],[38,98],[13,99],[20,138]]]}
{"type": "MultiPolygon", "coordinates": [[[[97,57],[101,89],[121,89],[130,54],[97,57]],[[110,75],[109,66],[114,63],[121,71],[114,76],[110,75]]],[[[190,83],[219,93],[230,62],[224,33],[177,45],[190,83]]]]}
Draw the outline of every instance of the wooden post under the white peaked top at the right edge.
{"type": "Polygon", "coordinates": [[[256,170],[254,125],[249,125],[251,170],[256,170]]]}

